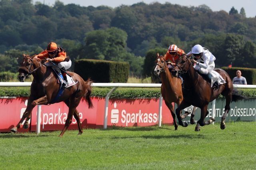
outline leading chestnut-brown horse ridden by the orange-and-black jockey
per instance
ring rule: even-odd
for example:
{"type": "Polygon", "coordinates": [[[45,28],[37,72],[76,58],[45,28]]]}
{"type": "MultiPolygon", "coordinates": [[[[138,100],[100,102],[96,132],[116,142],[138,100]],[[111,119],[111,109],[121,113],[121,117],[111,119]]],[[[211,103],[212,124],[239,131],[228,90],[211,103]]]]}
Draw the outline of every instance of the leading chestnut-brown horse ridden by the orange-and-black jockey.
{"type": "MultiPolygon", "coordinates": [[[[20,119],[19,123],[16,127],[12,128],[11,131],[16,133],[20,125],[26,118],[26,121],[23,125],[24,129],[29,127],[29,119],[31,118],[32,109],[36,105],[48,105],[52,104],[53,100],[55,99],[58,91],[60,89],[60,84],[57,82],[56,75],[54,74],[52,68],[46,67],[42,64],[40,59],[35,59],[34,56],[26,56],[23,55],[22,62],[20,63],[20,68],[18,70],[18,78],[20,82],[24,82],[28,75],[32,74],[34,79],[31,84],[30,88],[30,96],[28,98],[28,106],[23,113],[22,118],[20,119]]],[[[86,82],[76,73],[68,72],[73,78],[73,80],[78,83],[64,89],[64,93],[55,103],[64,101],[65,104],[68,106],[68,117],[65,122],[64,129],[60,133],[60,137],[65,133],[68,129],[72,121],[72,116],[76,119],[78,125],[78,135],[83,133],[82,125],[80,122],[79,112],[77,111],[76,107],[80,103],[82,97],[85,98],[88,107],[93,107],[92,101],[90,99],[90,94],[92,91],[91,88],[91,81],[88,79],[86,82]]]]}

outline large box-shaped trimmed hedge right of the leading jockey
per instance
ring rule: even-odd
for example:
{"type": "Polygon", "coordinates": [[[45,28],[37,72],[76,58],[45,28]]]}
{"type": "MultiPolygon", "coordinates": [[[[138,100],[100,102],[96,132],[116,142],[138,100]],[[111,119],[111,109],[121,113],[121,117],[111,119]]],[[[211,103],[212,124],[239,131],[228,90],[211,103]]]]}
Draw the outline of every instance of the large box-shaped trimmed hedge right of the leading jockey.
{"type": "Polygon", "coordinates": [[[96,83],[126,83],[129,68],[129,63],[125,62],[80,59],[75,61],[74,72],[96,83]]]}

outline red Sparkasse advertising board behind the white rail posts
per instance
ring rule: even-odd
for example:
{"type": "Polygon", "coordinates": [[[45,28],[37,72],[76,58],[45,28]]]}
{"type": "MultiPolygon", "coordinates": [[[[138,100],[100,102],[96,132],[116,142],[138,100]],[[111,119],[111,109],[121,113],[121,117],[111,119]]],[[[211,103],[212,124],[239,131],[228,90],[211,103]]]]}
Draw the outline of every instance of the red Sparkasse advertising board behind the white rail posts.
{"type": "MultiPolygon", "coordinates": [[[[28,98],[0,99],[0,132],[8,132],[22,117],[28,98]]],[[[88,109],[81,100],[77,107],[83,128],[102,128],[104,123],[105,98],[92,97],[94,108],[88,109]]],[[[159,99],[110,99],[108,105],[108,126],[151,126],[158,124],[159,99]]],[[[37,107],[32,111],[30,128],[18,131],[36,131],[37,107]]],[[[62,130],[68,115],[64,102],[42,105],[40,110],[41,131],[62,130]]],[[[172,124],[169,109],[163,104],[162,123],[172,124]]],[[[72,119],[69,129],[78,129],[72,119]]]]}

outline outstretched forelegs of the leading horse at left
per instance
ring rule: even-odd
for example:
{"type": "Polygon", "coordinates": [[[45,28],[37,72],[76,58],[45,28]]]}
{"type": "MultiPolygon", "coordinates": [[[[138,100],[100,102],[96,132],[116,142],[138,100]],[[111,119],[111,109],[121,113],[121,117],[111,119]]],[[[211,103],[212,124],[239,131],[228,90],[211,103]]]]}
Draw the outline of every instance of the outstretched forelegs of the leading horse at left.
{"type": "Polygon", "coordinates": [[[20,128],[20,125],[22,124],[22,122],[24,121],[24,119],[26,118],[26,121],[23,125],[23,128],[24,129],[27,129],[29,127],[29,119],[31,118],[31,113],[32,113],[32,110],[34,109],[34,107],[38,104],[46,104],[47,103],[47,96],[43,96],[37,100],[34,100],[33,102],[30,102],[31,99],[28,100],[28,106],[25,110],[25,112],[23,113],[23,116],[22,118],[20,119],[19,123],[16,125],[16,127],[12,128],[11,131],[16,133],[18,131],[18,128],[20,128]]]}

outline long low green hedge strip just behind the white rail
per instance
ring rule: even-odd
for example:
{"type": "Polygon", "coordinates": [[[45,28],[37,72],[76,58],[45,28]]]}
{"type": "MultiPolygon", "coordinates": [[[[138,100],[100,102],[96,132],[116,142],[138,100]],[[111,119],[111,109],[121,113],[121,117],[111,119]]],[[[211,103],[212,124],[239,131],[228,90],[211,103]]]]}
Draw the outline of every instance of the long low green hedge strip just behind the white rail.
{"type": "MultiPolygon", "coordinates": [[[[91,96],[106,97],[112,88],[92,88],[91,96]]],[[[256,89],[238,89],[242,91],[242,95],[256,98],[256,89]]],[[[110,98],[159,98],[160,88],[117,88],[110,98]]],[[[30,87],[2,87],[0,88],[0,96],[17,96],[28,97],[30,95],[30,87]]],[[[220,95],[220,98],[223,96],[220,95]]]]}

